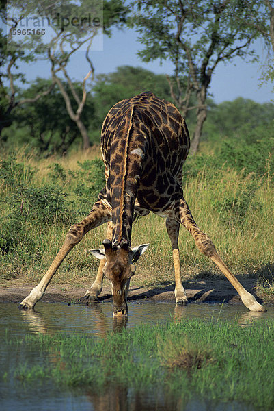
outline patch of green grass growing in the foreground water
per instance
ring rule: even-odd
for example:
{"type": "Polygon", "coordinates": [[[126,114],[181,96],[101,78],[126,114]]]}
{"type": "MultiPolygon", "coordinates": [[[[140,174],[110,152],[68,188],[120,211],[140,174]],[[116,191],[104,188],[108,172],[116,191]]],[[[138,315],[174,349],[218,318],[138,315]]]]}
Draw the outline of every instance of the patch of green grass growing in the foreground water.
{"type": "Polygon", "coordinates": [[[5,378],[98,392],[109,385],[153,389],[185,400],[238,401],[273,410],[273,333],[273,321],[239,327],[236,321],[189,320],[124,329],[102,339],[40,334],[14,345],[7,336],[14,352],[33,355],[29,362],[18,356],[16,370],[5,378]]]}

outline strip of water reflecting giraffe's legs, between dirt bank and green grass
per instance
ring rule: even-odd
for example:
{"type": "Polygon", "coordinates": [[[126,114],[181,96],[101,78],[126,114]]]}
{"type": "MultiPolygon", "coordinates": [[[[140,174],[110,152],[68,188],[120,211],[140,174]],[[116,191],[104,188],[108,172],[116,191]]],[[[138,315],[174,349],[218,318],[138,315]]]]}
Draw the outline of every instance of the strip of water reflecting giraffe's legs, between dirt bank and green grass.
{"type": "Polygon", "coordinates": [[[251,312],[241,305],[190,303],[187,306],[174,303],[142,301],[131,302],[127,317],[113,317],[111,303],[92,303],[90,306],[64,303],[39,303],[35,310],[18,310],[14,304],[1,304],[0,327],[13,328],[18,334],[25,332],[69,334],[84,332],[94,336],[105,336],[111,331],[119,332],[125,327],[133,328],[139,324],[161,323],[202,319],[204,321],[237,321],[247,327],[254,321],[274,318],[274,308],[267,312],[251,312]]]}

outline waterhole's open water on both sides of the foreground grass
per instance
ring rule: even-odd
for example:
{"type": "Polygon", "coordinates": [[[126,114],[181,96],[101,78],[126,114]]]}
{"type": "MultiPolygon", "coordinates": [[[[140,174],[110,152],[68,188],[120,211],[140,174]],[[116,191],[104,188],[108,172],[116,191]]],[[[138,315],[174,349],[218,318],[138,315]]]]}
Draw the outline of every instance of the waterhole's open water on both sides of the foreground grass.
{"type": "MultiPolygon", "coordinates": [[[[237,321],[241,327],[249,327],[254,321],[274,318],[274,308],[266,313],[251,313],[242,305],[190,303],[176,306],[169,302],[131,302],[128,304],[128,319],[113,321],[111,303],[95,303],[92,306],[67,306],[64,303],[38,303],[36,310],[18,310],[16,304],[0,303],[0,370],[1,375],[16,368],[19,361],[42,361],[40,352],[14,345],[6,345],[5,339],[22,338],[26,334],[72,334],[85,333],[101,338],[113,329],[131,329],[138,324],[154,324],[172,319],[210,319],[237,321]],[[8,333],[8,334],[7,334],[8,333]]],[[[100,377],[100,376],[98,376],[100,377]]],[[[43,386],[29,386],[14,379],[0,381],[0,410],[16,411],[49,410],[215,410],[215,411],[255,411],[238,403],[205,403],[196,398],[189,403],[167,398],[163,393],[137,393],[128,388],[111,387],[103,395],[92,389],[64,389],[47,382],[43,386]],[[115,407],[114,407],[115,404],[115,407]]]]}

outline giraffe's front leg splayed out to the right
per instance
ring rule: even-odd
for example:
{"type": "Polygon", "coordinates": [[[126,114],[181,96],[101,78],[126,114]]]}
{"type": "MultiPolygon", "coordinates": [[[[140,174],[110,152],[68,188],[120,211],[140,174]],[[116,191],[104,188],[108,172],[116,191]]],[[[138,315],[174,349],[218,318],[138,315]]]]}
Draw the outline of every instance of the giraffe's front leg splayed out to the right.
{"type": "Polygon", "coordinates": [[[228,267],[225,265],[223,260],[220,258],[217,253],[213,242],[210,238],[204,234],[197,224],[195,223],[193,216],[189,210],[189,206],[184,199],[180,201],[180,221],[184,227],[191,233],[195,240],[195,245],[197,248],[207,257],[209,257],[215,264],[219,267],[221,272],[225,275],[228,281],[234,286],[235,290],[240,295],[243,304],[249,308],[250,311],[266,311],[266,309],[261,306],[254,295],[251,295],[250,292],[247,292],[242,284],[236,279],[236,277],[231,273],[228,267]]]}

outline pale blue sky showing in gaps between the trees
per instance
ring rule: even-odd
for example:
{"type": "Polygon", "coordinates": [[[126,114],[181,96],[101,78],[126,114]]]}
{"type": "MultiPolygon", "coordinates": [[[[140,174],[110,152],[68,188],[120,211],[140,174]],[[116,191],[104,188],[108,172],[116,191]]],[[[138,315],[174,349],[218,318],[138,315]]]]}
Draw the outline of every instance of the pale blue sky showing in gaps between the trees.
{"type": "MultiPolygon", "coordinates": [[[[95,74],[111,73],[122,65],[141,66],[156,74],[172,74],[173,66],[169,62],[163,62],[162,65],[159,64],[159,61],[152,63],[141,62],[137,51],[142,46],[137,41],[137,36],[133,29],[124,31],[113,29],[111,38],[104,36],[102,51],[91,52],[95,74]]],[[[260,86],[262,65],[266,64],[267,52],[264,50],[262,40],[258,40],[255,46],[260,55],[258,63],[244,62],[241,58],[236,58],[233,62],[220,63],[217,66],[209,90],[215,103],[232,101],[237,97],[252,99],[258,103],[274,100],[274,84],[260,86]]],[[[21,69],[27,73],[27,79],[29,80],[38,76],[50,77],[50,66],[46,62],[36,62],[27,66],[22,64],[21,69]]],[[[70,62],[69,73],[74,80],[80,81],[85,77],[87,71],[85,53],[79,51],[70,62]]]]}

